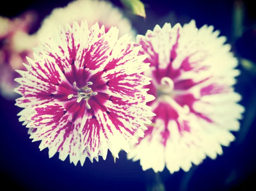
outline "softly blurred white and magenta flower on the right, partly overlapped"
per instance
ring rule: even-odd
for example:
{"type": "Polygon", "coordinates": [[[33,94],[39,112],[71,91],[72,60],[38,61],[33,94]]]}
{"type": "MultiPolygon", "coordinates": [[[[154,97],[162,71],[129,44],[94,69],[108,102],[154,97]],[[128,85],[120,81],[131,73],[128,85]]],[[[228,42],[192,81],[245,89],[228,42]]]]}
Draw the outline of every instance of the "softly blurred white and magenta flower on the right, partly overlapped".
{"type": "Polygon", "coordinates": [[[137,36],[139,54],[147,54],[144,62],[150,63],[144,75],[152,81],[145,88],[156,97],[148,103],[156,116],[149,118],[144,138],[128,154],[140,160],[143,170],[163,171],[166,166],[171,173],[188,171],[206,156],[221,155],[221,145],[235,139],[230,131],[239,130],[244,111],[232,87],[238,61],[219,33],[213,26],[197,29],[192,20],[183,27],[166,23],[137,36]]]}

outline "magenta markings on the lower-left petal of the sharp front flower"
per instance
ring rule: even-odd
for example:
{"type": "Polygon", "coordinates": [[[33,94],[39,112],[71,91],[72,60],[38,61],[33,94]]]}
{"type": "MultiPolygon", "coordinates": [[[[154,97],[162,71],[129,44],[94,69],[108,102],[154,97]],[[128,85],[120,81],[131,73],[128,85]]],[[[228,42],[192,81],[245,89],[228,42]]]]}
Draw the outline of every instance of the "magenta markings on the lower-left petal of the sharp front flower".
{"type": "Polygon", "coordinates": [[[68,145],[70,145],[68,152],[70,153],[72,147],[71,143],[74,139],[77,139],[77,135],[74,133],[78,131],[79,123],[77,123],[76,120],[81,120],[84,110],[85,104],[76,103],[76,101],[68,101],[64,105],[55,103],[54,105],[47,105],[43,108],[35,108],[37,113],[31,120],[36,126],[42,127],[42,129],[49,128],[48,131],[41,134],[38,132],[38,137],[41,139],[47,138],[49,142],[46,141],[46,144],[48,145],[55,143],[55,145],[52,146],[57,147],[57,151],[63,150],[65,141],[70,137],[70,143],[68,143],[68,145]],[[48,117],[48,115],[50,115],[50,117],[48,117]],[[49,119],[47,122],[42,122],[42,120],[47,119],[49,119]],[[75,128],[76,131],[74,131],[75,128]],[[63,137],[59,137],[61,136],[61,132],[64,133],[63,137]]]}

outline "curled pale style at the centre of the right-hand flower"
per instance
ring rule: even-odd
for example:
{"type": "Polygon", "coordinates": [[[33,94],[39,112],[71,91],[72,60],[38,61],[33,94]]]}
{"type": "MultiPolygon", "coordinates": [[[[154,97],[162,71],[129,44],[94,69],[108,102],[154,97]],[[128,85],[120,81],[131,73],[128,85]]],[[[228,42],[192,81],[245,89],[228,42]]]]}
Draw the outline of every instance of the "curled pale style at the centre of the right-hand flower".
{"type": "Polygon", "coordinates": [[[161,79],[161,85],[157,88],[157,96],[160,97],[161,95],[172,95],[174,89],[174,83],[171,78],[163,77],[161,79]]]}

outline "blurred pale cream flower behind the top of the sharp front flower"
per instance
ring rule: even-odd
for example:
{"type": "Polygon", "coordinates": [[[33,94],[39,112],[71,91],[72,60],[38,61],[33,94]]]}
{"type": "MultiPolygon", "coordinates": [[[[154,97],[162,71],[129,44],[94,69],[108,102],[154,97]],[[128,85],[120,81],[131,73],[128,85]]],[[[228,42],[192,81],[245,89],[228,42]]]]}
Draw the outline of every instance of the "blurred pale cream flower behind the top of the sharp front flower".
{"type": "Polygon", "coordinates": [[[111,2],[105,0],[74,0],[63,8],[56,8],[44,19],[38,36],[49,37],[58,29],[58,26],[72,26],[74,21],[78,23],[87,20],[88,28],[95,23],[105,26],[107,32],[112,26],[119,29],[119,37],[129,34],[133,37],[136,32],[132,29],[131,22],[124,17],[122,11],[111,2]]]}

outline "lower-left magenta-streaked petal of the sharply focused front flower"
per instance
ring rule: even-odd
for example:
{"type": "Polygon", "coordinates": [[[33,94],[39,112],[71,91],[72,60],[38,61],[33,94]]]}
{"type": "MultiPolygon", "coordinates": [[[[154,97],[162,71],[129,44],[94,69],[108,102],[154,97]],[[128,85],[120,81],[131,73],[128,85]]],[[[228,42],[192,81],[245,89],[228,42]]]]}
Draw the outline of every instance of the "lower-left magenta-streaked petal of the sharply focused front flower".
{"type": "Polygon", "coordinates": [[[75,100],[40,105],[30,118],[27,127],[39,128],[30,138],[42,140],[39,148],[49,148],[49,157],[57,151],[59,158],[65,160],[70,155],[70,162],[75,165],[80,160],[81,138],[79,128],[84,115],[85,105],[74,104],[75,100]]]}

